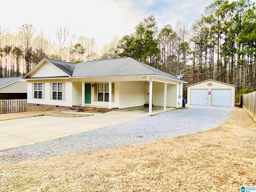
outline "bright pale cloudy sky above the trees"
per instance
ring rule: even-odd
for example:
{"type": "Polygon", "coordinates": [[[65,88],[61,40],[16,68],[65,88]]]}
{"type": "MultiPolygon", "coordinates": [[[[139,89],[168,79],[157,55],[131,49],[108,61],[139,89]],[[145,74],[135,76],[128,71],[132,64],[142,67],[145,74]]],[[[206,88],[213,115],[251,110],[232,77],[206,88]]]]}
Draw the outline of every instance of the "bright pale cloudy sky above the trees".
{"type": "MultiPolygon", "coordinates": [[[[255,0],[253,0],[255,2],[255,0]]],[[[68,27],[69,36],[94,37],[99,48],[115,35],[118,39],[134,32],[135,26],[153,14],[161,29],[175,27],[177,20],[188,27],[204,13],[213,0],[4,0],[0,25],[17,32],[23,24],[42,30],[48,39],[55,38],[56,27],[68,27]]]]}

